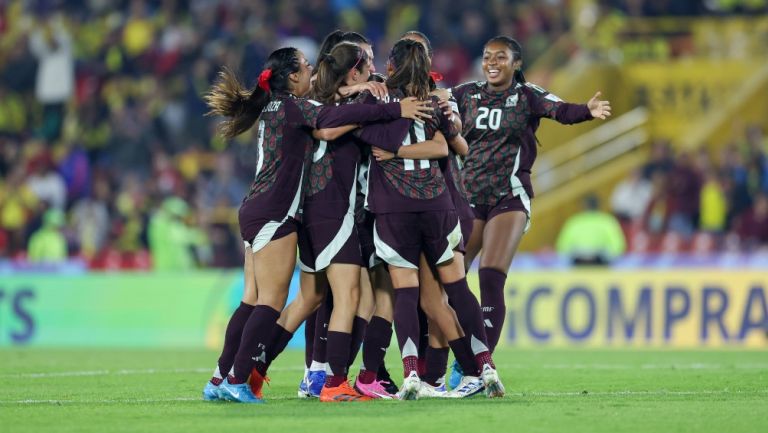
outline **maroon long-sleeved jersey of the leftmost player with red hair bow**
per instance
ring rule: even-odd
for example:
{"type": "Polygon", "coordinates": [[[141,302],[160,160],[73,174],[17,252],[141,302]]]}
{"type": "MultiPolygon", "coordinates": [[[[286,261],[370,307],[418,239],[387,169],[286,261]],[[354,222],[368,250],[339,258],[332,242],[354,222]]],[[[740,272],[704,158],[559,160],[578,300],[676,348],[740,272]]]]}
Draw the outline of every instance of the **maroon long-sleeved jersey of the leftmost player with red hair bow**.
{"type": "Polygon", "coordinates": [[[400,105],[325,107],[287,94],[275,94],[259,116],[258,160],[246,200],[259,201],[259,215],[281,221],[295,217],[304,168],[312,152],[313,129],[400,118],[400,105]]]}

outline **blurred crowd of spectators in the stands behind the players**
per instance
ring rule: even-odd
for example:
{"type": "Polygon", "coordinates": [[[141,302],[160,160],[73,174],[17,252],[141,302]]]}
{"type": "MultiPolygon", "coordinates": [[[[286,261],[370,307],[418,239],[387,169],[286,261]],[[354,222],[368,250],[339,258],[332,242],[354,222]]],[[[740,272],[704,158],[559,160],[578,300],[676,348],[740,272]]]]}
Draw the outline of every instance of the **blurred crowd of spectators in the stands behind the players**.
{"type": "MultiPolygon", "coordinates": [[[[239,266],[234,209],[254,155],[248,137],[215,136],[201,95],[221,65],[252,82],[278,46],[312,59],[328,32],[356,30],[383,68],[391,44],[418,28],[453,85],[478,77],[488,38],[514,36],[531,64],[588,9],[599,21],[766,8],[762,0],[0,0],[0,258],[239,266]]],[[[749,232],[768,243],[768,223],[751,222],[768,213],[763,133],[750,127],[715,158],[657,143],[643,172],[617,187],[613,210],[644,233],[749,232]]]]}

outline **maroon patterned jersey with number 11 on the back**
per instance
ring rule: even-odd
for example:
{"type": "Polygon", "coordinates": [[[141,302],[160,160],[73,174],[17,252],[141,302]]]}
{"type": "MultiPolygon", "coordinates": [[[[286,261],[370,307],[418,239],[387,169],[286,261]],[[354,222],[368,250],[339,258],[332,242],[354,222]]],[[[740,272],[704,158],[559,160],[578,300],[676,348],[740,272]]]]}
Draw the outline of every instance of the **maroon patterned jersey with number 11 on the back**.
{"type": "MultiPolygon", "coordinates": [[[[404,97],[400,91],[390,89],[388,99],[399,101],[404,97]]],[[[440,127],[437,98],[433,98],[432,102],[438,116],[426,122],[401,119],[389,125],[366,126],[361,128],[358,135],[369,143],[384,131],[388,131],[393,137],[404,135],[401,141],[393,138],[381,142],[378,146],[393,153],[397,153],[400,146],[430,140],[440,127]],[[403,132],[405,134],[402,134],[403,132]]],[[[375,214],[453,209],[453,202],[438,162],[426,159],[371,159],[367,202],[371,212],[375,214]]]]}

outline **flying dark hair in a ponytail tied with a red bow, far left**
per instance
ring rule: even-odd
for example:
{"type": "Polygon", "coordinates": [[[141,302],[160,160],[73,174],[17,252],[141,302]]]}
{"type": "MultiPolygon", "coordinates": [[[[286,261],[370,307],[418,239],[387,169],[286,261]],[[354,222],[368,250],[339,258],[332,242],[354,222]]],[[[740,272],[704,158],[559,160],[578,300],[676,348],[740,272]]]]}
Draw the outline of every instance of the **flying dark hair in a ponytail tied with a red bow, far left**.
{"type": "Polygon", "coordinates": [[[296,48],[280,48],[269,55],[259,80],[252,89],[246,89],[227,67],[220,72],[211,90],[203,96],[210,110],[206,116],[223,116],[219,133],[233,138],[253,126],[273,93],[288,93],[288,75],[299,72],[296,48]]]}

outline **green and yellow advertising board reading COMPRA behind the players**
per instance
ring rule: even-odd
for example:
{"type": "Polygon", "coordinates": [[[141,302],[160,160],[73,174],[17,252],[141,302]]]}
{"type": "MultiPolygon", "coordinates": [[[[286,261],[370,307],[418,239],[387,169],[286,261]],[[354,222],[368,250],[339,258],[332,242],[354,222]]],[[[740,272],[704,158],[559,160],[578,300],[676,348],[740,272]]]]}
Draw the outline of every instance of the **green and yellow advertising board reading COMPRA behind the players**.
{"type": "MultiPolygon", "coordinates": [[[[765,272],[513,271],[500,344],[766,348],[766,287],[765,272]]],[[[0,346],[216,349],[241,291],[238,271],[3,276],[0,346]]]]}

